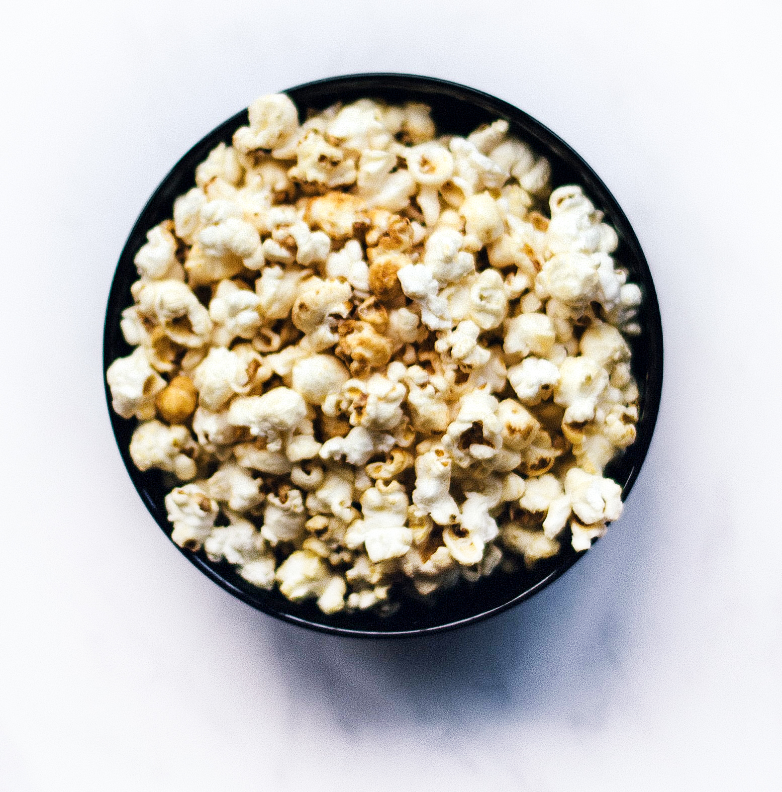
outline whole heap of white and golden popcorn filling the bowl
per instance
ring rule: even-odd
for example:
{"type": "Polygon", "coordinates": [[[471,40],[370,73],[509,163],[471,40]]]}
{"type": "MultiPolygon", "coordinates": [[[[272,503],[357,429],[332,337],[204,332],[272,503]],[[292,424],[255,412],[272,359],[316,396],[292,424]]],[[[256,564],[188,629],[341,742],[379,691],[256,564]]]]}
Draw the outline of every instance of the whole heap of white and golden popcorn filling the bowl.
{"type": "Polygon", "coordinates": [[[333,613],[602,536],[641,293],[549,177],[504,120],[255,101],[147,234],[107,372],[173,541],[333,613]]]}

